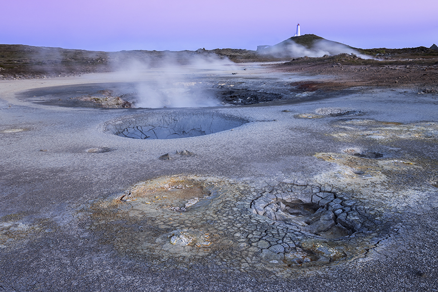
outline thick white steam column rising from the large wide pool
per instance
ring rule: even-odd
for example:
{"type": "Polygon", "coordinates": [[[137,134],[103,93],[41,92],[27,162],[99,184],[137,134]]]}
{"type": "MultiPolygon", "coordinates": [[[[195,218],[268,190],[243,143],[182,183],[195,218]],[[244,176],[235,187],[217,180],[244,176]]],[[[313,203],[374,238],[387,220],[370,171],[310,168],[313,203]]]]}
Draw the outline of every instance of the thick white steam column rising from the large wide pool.
{"type": "Polygon", "coordinates": [[[217,106],[219,100],[199,77],[236,70],[234,63],[216,54],[185,52],[129,58],[118,69],[123,79],[135,81],[136,108],[217,106]]]}

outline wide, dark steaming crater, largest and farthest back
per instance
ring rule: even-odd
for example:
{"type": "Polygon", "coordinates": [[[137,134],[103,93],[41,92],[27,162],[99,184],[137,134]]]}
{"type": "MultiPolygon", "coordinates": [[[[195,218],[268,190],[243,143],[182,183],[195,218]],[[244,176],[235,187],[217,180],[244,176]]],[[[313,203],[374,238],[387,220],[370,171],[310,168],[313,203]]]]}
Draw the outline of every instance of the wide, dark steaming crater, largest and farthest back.
{"type": "Polygon", "coordinates": [[[152,78],[142,82],[44,87],[22,91],[18,98],[61,107],[128,109],[252,105],[283,97],[282,93],[236,88],[234,84],[170,79],[174,81],[152,78]]]}

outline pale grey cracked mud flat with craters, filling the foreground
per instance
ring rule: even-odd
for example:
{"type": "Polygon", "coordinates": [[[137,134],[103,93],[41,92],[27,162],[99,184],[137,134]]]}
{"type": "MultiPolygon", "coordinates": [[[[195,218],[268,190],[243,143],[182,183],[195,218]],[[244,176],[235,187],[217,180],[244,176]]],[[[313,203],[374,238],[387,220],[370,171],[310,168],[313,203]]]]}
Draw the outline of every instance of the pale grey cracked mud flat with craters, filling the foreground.
{"type": "Polygon", "coordinates": [[[0,288],[437,291],[424,59],[190,73],[230,99],[206,108],[69,105],[123,104],[111,73],[0,81],[0,288]]]}

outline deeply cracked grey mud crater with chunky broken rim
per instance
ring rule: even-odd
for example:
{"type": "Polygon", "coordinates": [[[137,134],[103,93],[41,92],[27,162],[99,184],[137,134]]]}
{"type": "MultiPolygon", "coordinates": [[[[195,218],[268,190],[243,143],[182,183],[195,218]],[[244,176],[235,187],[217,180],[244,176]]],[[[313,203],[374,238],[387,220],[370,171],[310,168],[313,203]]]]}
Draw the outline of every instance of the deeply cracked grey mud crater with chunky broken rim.
{"type": "Polygon", "coordinates": [[[253,213],[290,224],[302,232],[333,239],[364,228],[366,218],[357,213],[354,205],[354,201],[336,192],[294,185],[284,192],[259,197],[251,208],[253,213]],[[352,217],[357,220],[348,219],[352,217]]]}

